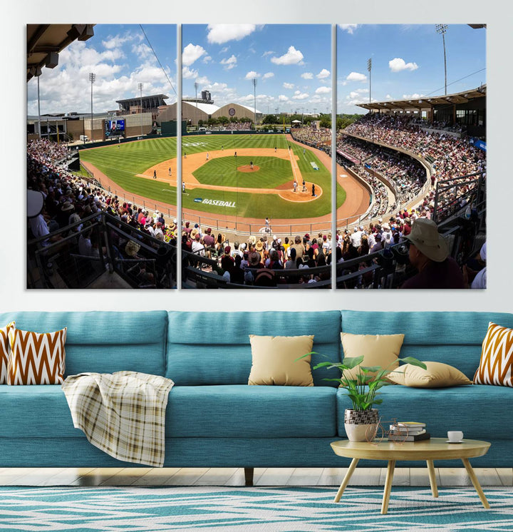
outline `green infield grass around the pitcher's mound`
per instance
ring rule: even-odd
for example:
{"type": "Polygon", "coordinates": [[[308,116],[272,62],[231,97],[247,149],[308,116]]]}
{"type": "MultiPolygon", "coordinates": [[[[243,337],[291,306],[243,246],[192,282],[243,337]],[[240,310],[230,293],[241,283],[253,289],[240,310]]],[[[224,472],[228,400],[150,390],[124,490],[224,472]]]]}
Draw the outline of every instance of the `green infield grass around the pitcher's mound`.
{"type": "Polygon", "coordinates": [[[233,155],[211,159],[192,175],[205,185],[240,188],[276,188],[294,179],[289,160],[277,157],[241,157],[233,155]],[[239,172],[237,168],[253,161],[259,170],[239,172]]]}

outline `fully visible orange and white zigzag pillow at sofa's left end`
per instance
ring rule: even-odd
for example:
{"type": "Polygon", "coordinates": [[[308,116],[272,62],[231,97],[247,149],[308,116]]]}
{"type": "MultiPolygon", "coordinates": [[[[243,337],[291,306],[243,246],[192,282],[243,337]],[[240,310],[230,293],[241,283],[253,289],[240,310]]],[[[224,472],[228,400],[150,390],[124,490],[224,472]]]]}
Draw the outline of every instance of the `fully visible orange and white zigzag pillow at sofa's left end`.
{"type": "Polygon", "coordinates": [[[7,384],[62,384],[67,327],[56,332],[9,329],[11,354],[7,384]]]}

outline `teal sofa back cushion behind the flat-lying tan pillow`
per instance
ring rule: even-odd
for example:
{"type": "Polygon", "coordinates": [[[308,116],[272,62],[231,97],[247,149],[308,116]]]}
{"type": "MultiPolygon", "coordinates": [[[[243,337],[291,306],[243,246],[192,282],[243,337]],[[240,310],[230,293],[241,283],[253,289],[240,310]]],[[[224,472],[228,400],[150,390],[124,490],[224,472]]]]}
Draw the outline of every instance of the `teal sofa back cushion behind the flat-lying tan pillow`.
{"type": "Polygon", "coordinates": [[[404,334],[400,357],[445,362],[469,379],[480,364],[488,323],[513,327],[505,312],[342,311],[342,330],[353,334],[404,334]]]}

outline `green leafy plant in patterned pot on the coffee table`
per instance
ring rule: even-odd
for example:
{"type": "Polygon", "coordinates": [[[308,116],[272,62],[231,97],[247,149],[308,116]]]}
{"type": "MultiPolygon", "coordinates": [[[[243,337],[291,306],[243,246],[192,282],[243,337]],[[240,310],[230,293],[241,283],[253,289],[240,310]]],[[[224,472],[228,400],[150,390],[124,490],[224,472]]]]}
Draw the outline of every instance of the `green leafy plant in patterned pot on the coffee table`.
{"type": "MultiPolygon", "coordinates": [[[[311,354],[317,353],[307,353],[304,357],[308,357],[311,354]]],[[[405,362],[405,364],[413,364],[413,366],[426,369],[423,362],[413,357],[404,357],[398,360],[405,362]]],[[[378,390],[392,384],[386,380],[386,376],[389,373],[398,372],[398,369],[389,369],[390,366],[385,368],[380,366],[359,366],[356,379],[344,377],[346,369],[353,369],[362,362],[363,356],[346,357],[342,362],[319,362],[314,366],[314,369],[321,367],[326,369],[336,368],[341,372],[341,377],[338,379],[323,380],[338,382],[339,387],[348,391],[349,399],[351,399],[353,404],[352,409],[344,411],[344,426],[349,441],[371,441],[374,438],[378,429],[379,413],[378,409],[373,408],[373,406],[383,402],[383,399],[378,398],[378,395],[380,395],[378,390]]]]}

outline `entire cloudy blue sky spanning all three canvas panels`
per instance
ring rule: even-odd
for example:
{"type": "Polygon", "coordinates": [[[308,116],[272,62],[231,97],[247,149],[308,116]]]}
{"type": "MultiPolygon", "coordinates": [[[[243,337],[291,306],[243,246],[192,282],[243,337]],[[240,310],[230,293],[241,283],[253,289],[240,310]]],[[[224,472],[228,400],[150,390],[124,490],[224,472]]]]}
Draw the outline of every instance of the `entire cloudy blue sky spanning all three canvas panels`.
{"type": "MultiPolygon", "coordinates": [[[[93,38],[68,46],[56,68],[43,68],[41,113],[90,111],[90,72],[96,74],[95,112],[115,110],[116,100],[138,96],[138,83],[144,95],[164,93],[170,96],[167,103],[175,102],[177,26],[145,24],[142,29],[97,24],[93,38]]],[[[337,31],[338,113],[365,112],[356,103],[368,102],[368,58],[373,60],[373,100],[443,94],[442,36],[434,24],[347,24],[337,31]]],[[[448,93],[486,82],[486,31],[448,26],[448,93]]],[[[182,47],[184,96],[195,96],[197,82],[198,94],[211,91],[218,106],[253,107],[251,80],[257,78],[257,109],[263,113],[331,111],[328,24],[185,24],[182,47]]],[[[36,78],[27,83],[29,115],[37,114],[36,86],[36,78]]]]}

